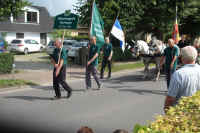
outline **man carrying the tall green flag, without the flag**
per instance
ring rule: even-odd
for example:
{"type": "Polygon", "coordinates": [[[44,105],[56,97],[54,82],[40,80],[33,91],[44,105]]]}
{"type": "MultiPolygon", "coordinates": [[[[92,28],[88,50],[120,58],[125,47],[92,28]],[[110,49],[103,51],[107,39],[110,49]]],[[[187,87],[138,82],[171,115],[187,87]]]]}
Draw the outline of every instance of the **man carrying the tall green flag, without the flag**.
{"type": "Polygon", "coordinates": [[[101,88],[101,83],[99,81],[99,78],[97,77],[97,68],[96,66],[98,65],[98,55],[99,55],[99,48],[96,45],[96,37],[92,37],[90,39],[90,48],[89,48],[89,57],[87,61],[87,66],[86,66],[86,89],[91,88],[91,73],[98,85],[98,89],[101,88]]]}

